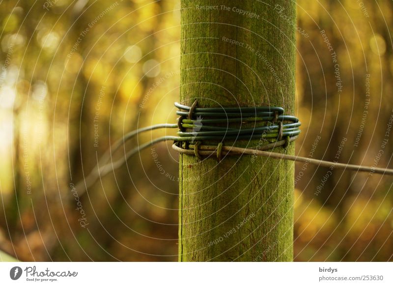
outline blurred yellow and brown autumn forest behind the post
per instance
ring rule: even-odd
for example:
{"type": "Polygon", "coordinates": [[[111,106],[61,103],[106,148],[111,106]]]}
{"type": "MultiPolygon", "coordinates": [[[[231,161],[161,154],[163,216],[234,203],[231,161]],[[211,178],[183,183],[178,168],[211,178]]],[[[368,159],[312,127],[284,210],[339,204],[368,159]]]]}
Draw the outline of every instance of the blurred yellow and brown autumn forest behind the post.
{"type": "MultiPolygon", "coordinates": [[[[171,143],[85,194],[73,186],[123,134],[175,122],[180,1],[0,7],[0,249],[21,260],[176,261],[171,143]]],[[[381,147],[392,116],[393,2],[298,0],[297,10],[296,153],[393,168],[393,134],[381,147]]],[[[328,171],[296,165],[295,260],[392,261],[392,177],[328,171]]]]}

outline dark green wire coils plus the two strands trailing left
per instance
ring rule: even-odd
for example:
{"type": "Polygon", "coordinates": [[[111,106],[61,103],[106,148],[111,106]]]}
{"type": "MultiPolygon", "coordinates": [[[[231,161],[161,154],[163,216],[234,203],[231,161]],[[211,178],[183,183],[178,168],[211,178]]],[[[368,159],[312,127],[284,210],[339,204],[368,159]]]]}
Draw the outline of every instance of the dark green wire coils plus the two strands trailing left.
{"type": "Polygon", "coordinates": [[[131,156],[139,153],[156,143],[165,141],[175,142],[200,142],[205,140],[252,140],[252,139],[279,139],[280,125],[282,122],[282,137],[294,137],[299,135],[301,123],[295,116],[283,115],[281,107],[215,107],[195,108],[190,117],[191,107],[175,102],[176,112],[179,115],[182,129],[192,131],[177,132],[177,136],[164,136],[143,143],[128,151],[121,159],[108,163],[112,154],[117,151],[126,141],[138,134],[163,128],[178,128],[178,124],[156,124],[147,126],[124,135],[117,140],[101,157],[95,168],[85,177],[84,181],[77,184],[79,190],[90,187],[99,176],[104,176],[122,166],[131,156]],[[274,120],[276,118],[276,120],[274,120]],[[231,124],[231,126],[228,126],[231,124]],[[234,126],[236,125],[237,126],[234,126]],[[262,125],[262,126],[261,126],[262,125]],[[247,127],[246,127],[247,126],[247,127]],[[100,167],[101,166],[101,167],[100,167]]]}

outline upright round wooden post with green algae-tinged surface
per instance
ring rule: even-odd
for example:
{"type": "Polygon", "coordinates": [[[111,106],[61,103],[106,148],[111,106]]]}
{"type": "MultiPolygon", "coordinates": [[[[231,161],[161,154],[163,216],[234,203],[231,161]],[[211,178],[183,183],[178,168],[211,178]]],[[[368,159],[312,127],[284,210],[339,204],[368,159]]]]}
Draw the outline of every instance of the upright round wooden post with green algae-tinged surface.
{"type": "MultiPolygon", "coordinates": [[[[181,0],[181,102],[280,106],[293,114],[295,5],[181,0]]],[[[293,154],[294,143],[273,151],[293,154]]],[[[293,162],[180,155],[179,168],[180,261],[293,259],[293,162]]]]}

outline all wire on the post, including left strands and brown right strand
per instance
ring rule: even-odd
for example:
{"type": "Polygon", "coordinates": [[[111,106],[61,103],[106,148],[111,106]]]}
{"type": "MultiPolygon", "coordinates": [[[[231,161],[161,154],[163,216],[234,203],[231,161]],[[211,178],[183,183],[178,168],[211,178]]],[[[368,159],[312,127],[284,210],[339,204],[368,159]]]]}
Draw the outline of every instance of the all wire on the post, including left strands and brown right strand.
{"type": "Polygon", "coordinates": [[[366,167],[359,165],[349,165],[337,162],[322,161],[306,157],[292,156],[281,153],[267,152],[264,150],[273,149],[279,146],[287,146],[296,140],[300,134],[299,119],[295,116],[284,115],[281,107],[217,107],[198,108],[197,101],[189,107],[180,103],[175,103],[179,110],[178,122],[175,124],[157,124],[134,130],[124,135],[116,141],[101,157],[93,170],[76,185],[80,196],[90,187],[100,176],[114,171],[122,166],[131,156],[153,144],[174,141],[172,148],[179,153],[201,156],[217,155],[221,160],[222,155],[255,155],[274,159],[292,160],[296,162],[308,162],[323,167],[352,170],[357,172],[372,172],[393,175],[393,169],[366,167]],[[164,136],[156,138],[150,142],[143,143],[125,152],[125,155],[117,160],[108,163],[112,159],[112,154],[126,141],[134,138],[138,134],[161,128],[178,128],[177,136],[164,136]],[[191,130],[191,131],[187,131],[191,130]],[[237,140],[265,139],[262,145],[248,146],[240,148],[225,146],[224,140],[233,142],[237,140]],[[216,141],[215,145],[204,145],[202,141],[216,141]],[[183,142],[183,146],[180,144],[183,142]]]}

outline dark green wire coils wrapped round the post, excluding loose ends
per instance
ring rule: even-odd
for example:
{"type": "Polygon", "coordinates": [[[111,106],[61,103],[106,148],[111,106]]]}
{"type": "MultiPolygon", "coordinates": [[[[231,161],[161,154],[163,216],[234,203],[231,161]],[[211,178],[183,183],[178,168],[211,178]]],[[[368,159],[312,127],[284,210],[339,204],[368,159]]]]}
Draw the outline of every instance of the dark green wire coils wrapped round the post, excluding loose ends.
{"type": "MultiPolygon", "coordinates": [[[[196,101],[197,102],[197,101],[196,101]]],[[[196,103],[195,102],[195,103],[196,103]]],[[[196,106],[194,103],[193,106],[196,106]]],[[[253,140],[296,137],[300,133],[299,119],[283,115],[281,107],[195,108],[175,103],[179,141],[253,140]],[[187,117],[186,117],[187,116],[187,117]],[[236,127],[233,127],[237,125],[236,127]],[[191,129],[192,131],[185,131],[191,129]]]]}

